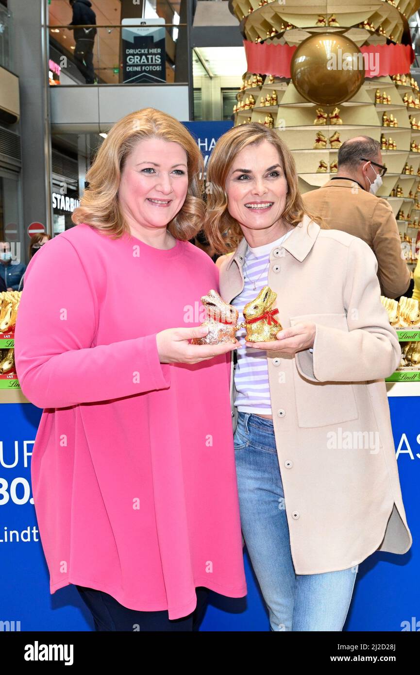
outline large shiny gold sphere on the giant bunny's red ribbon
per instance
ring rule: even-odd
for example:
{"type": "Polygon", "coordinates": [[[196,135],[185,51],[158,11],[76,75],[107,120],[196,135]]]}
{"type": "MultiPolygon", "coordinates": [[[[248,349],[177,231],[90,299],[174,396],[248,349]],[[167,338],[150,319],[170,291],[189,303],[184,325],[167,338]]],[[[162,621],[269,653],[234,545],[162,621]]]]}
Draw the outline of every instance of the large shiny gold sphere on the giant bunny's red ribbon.
{"type": "Polygon", "coordinates": [[[338,33],[317,33],[294,51],[290,72],[294,86],[307,101],[337,105],[361,87],[365,63],[352,40],[338,33]]]}

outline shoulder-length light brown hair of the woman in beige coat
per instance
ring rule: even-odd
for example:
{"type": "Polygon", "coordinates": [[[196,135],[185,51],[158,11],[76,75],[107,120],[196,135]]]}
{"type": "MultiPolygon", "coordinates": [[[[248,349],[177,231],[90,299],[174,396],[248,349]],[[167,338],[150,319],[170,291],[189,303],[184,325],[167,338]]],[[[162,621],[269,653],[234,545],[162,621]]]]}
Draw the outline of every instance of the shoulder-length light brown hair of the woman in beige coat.
{"type": "Polygon", "coordinates": [[[205,235],[217,252],[227,253],[234,250],[243,236],[240,225],[228,211],[228,195],[225,185],[232,163],[240,151],[248,145],[258,146],[264,140],[277,148],[288,185],[286,205],[282,215],[284,221],[289,225],[298,225],[303,215],[307,213],[321,227],[325,227],[321,218],[304,209],[302,196],[298,191],[296,165],[284,140],[273,129],[259,122],[242,124],[230,129],[219,138],[207,165],[205,235]]]}

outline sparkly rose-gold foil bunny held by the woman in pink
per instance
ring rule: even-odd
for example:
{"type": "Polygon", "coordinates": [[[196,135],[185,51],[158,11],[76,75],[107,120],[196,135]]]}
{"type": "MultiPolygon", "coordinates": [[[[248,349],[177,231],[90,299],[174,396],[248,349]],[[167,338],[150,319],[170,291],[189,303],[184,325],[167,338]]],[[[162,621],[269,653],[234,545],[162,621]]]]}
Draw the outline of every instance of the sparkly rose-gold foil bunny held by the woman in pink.
{"type": "Polygon", "coordinates": [[[221,344],[236,342],[235,333],[239,329],[238,310],[232,304],[221,299],[215,290],[209,290],[207,296],[201,298],[205,307],[206,318],[201,324],[208,326],[209,332],[203,338],[192,338],[191,344],[221,344]]]}

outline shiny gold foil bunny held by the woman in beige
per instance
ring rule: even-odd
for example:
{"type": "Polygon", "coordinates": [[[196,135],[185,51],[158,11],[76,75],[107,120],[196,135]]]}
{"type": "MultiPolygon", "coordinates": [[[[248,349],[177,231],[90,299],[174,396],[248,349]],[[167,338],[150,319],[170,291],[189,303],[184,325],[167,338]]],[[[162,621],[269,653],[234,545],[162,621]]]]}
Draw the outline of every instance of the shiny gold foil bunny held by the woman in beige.
{"type": "Polygon", "coordinates": [[[274,316],[278,314],[278,309],[271,309],[275,298],[277,293],[269,286],[264,286],[257,298],[244,306],[245,323],[240,325],[246,328],[247,342],[272,342],[276,339],[277,333],[283,330],[274,316]]]}

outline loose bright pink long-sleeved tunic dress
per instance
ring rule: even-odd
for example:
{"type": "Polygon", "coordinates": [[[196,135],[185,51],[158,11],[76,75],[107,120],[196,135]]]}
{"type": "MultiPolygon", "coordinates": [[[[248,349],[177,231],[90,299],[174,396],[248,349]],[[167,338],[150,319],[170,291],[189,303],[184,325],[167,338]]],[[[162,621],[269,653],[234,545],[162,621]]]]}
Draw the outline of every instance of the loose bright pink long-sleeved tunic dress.
{"type": "Polygon", "coordinates": [[[169,619],[196,586],[246,594],[228,359],[161,364],[155,339],[199,325],[210,288],[217,268],[192,244],[88,225],[30,261],[15,356],[45,408],[31,470],[51,593],[92,587],[169,619]]]}

